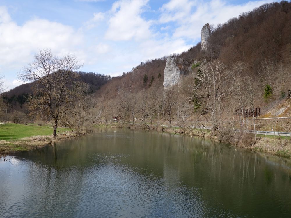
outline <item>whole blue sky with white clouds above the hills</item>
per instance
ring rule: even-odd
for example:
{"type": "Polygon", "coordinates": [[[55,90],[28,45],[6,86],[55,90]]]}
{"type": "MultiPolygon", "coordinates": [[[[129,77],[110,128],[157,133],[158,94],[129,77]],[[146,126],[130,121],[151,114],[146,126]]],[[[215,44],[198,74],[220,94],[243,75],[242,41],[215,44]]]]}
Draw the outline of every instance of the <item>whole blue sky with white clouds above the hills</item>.
{"type": "Polygon", "coordinates": [[[200,41],[205,23],[224,23],[262,1],[0,0],[0,74],[8,89],[38,48],[74,53],[82,70],[116,76],[200,41]]]}

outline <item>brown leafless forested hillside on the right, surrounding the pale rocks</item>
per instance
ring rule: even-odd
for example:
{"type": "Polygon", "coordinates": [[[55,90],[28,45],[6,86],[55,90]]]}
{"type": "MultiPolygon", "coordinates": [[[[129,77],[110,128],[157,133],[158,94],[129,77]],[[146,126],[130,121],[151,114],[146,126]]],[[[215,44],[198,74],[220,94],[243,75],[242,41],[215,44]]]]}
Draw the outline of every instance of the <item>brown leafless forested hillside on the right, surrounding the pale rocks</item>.
{"type": "Polygon", "coordinates": [[[147,128],[148,121],[161,120],[180,126],[209,120],[219,131],[262,128],[248,123],[251,110],[266,112],[291,89],[291,3],[242,13],[212,28],[207,51],[198,43],[171,57],[183,72],[178,84],[163,87],[166,57],[141,63],[98,90],[100,121],[118,115],[147,128]]]}

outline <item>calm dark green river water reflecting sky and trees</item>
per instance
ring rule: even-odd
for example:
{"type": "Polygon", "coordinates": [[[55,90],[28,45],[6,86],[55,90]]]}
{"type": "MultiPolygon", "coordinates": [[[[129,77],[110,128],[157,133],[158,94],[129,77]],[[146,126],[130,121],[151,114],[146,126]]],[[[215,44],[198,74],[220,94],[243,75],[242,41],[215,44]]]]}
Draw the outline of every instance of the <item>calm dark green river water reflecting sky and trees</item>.
{"type": "Polygon", "coordinates": [[[291,217],[290,160],[99,128],[0,161],[0,217],[291,217]]]}

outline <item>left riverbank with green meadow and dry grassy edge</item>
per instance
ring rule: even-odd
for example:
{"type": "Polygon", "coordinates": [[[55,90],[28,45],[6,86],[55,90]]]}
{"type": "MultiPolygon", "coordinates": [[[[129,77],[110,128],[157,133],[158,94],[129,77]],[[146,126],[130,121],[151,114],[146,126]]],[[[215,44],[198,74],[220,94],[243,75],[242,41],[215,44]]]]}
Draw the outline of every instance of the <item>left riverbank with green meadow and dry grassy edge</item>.
{"type": "Polygon", "coordinates": [[[0,157],[11,152],[28,151],[77,136],[66,128],[58,128],[57,138],[54,139],[52,131],[51,126],[5,124],[0,128],[0,157]]]}

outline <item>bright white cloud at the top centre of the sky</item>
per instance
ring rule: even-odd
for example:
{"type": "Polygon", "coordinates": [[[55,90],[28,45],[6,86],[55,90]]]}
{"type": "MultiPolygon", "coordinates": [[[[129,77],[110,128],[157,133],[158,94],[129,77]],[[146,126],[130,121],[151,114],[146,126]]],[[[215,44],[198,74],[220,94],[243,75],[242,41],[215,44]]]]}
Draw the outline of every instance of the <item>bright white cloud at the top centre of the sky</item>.
{"type": "Polygon", "coordinates": [[[113,3],[105,37],[114,41],[151,37],[151,21],[141,17],[147,3],[148,0],[120,0],[113,3]]]}

